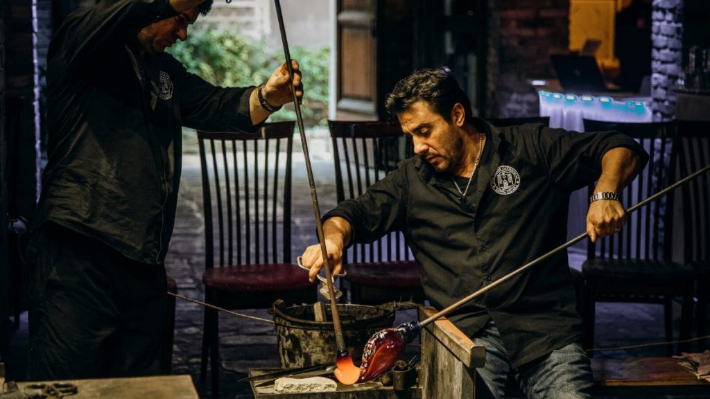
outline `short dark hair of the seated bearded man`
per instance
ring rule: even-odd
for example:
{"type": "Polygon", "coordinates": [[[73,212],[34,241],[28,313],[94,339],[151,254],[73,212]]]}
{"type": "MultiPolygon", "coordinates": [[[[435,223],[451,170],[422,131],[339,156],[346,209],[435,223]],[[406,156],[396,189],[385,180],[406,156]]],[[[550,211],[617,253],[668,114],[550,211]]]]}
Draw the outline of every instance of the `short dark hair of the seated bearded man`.
{"type": "Polygon", "coordinates": [[[416,102],[427,102],[434,111],[449,121],[454,104],[464,106],[466,121],[471,121],[471,101],[447,67],[416,70],[395,84],[385,99],[385,108],[396,116],[416,102]]]}

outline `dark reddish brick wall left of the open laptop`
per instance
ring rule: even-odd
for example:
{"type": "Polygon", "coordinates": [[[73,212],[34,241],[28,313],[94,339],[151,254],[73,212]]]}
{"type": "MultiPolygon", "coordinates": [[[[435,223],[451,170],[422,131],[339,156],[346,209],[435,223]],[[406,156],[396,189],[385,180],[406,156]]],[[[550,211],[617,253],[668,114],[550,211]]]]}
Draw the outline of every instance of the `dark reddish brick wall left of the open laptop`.
{"type": "Polygon", "coordinates": [[[537,116],[537,92],[528,81],[555,77],[550,54],[567,51],[569,0],[489,0],[488,5],[493,22],[487,116],[537,116]]]}

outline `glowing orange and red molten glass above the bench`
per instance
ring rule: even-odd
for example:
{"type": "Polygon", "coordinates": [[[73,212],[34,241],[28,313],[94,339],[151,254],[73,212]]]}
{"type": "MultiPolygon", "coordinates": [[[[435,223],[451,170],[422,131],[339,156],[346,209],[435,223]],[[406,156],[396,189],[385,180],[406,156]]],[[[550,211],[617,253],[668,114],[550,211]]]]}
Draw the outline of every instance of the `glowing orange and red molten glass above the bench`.
{"type": "Polygon", "coordinates": [[[357,368],[347,352],[338,354],[335,377],[340,383],[352,385],[364,383],[386,373],[398,361],[405,346],[419,334],[419,322],[400,324],[397,328],[383,329],[367,341],[362,362],[357,368]]]}

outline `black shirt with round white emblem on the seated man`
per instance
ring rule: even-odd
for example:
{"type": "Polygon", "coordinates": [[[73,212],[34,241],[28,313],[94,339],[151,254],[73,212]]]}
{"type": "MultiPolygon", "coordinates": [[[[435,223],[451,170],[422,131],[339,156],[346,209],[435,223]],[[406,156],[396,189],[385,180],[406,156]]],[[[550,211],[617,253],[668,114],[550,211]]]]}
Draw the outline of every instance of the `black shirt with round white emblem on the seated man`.
{"type": "MultiPolygon", "coordinates": [[[[403,231],[422,266],[426,297],[438,309],[564,243],[569,195],[599,177],[606,151],[631,148],[642,166],[647,157],[633,139],[613,132],[577,133],[532,124],[498,130],[481,119],[474,124],[487,140],[465,199],[451,175],[437,173],[417,155],[361,197],[324,215],[347,219],[356,242],[403,231]]],[[[581,339],[575,302],[563,251],[472,300],[449,319],[471,335],[492,318],[517,367],[581,339]]]]}

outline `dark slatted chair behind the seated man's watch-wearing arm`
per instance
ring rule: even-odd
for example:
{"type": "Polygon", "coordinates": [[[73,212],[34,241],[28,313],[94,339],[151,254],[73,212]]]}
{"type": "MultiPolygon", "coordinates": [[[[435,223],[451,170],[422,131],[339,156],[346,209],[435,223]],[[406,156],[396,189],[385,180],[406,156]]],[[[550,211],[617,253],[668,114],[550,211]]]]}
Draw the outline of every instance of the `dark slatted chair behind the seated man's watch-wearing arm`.
{"type": "MultiPolygon", "coordinates": [[[[585,131],[619,131],[635,138],[649,153],[648,165],[632,184],[621,192],[625,209],[666,187],[672,180],[672,122],[628,124],[584,120],[585,131]]],[[[589,185],[589,195],[594,184],[589,185]]],[[[586,346],[594,346],[596,302],[661,303],[665,306],[665,335],[672,341],[672,300],[683,297],[681,338],[689,335],[692,312],[692,273],[671,261],[672,197],[652,202],[628,215],[626,226],[617,234],[589,241],[587,260],[582,264],[585,281],[583,319],[586,346]]],[[[668,354],[673,346],[669,345],[668,354]]]]}

